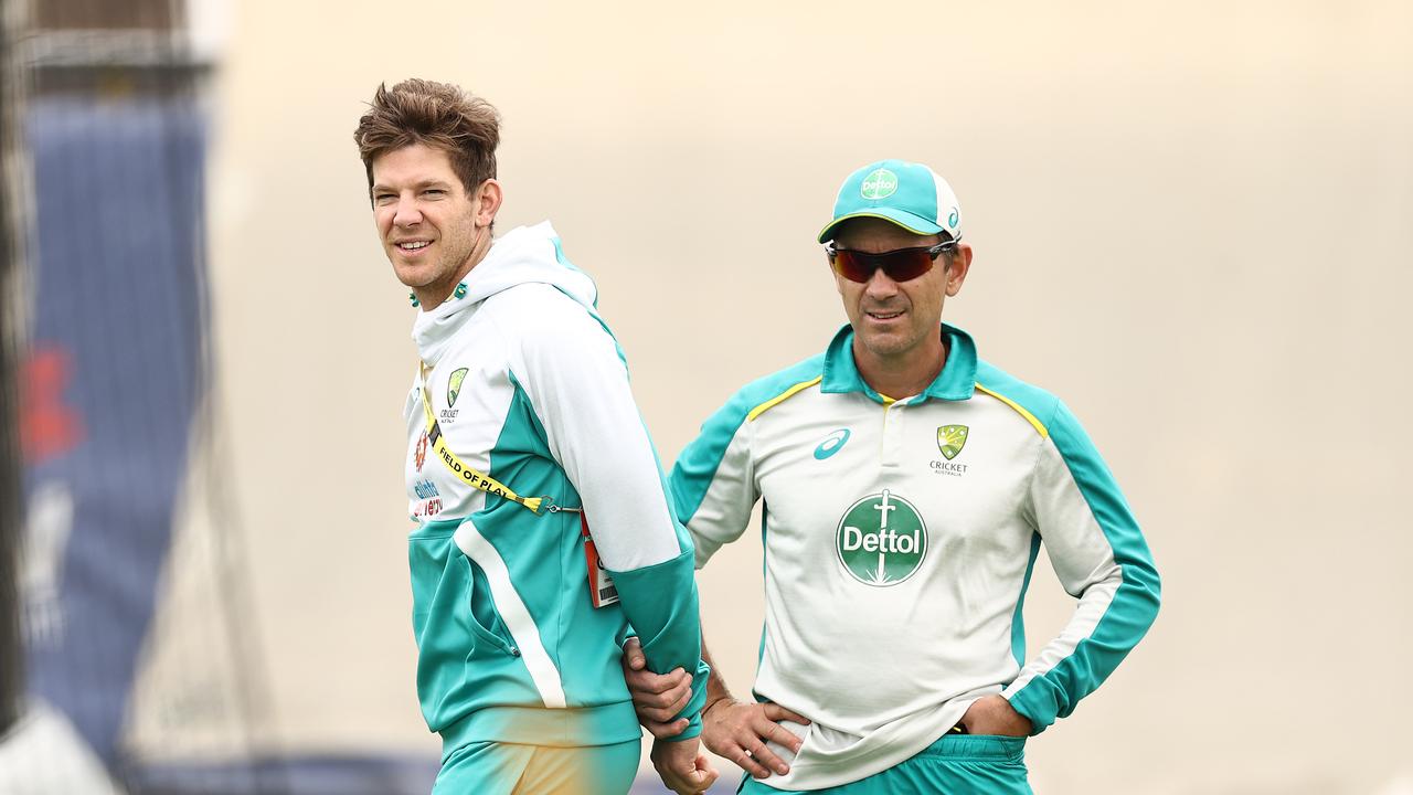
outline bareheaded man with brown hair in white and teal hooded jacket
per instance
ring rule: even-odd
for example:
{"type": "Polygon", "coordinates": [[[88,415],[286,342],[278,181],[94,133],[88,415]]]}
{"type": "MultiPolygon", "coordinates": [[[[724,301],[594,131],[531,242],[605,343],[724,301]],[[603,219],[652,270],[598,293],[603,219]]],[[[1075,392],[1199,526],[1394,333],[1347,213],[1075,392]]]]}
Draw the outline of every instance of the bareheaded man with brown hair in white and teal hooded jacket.
{"type": "Polygon", "coordinates": [[[699,753],[694,549],[593,282],[548,222],[492,235],[499,115],[456,86],[380,86],[355,140],[393,273],[420,307],[406,480],[417,689],[442,736],[435,794],[623,794],[640,729],[619,673],[690,672],[677,792],[699,753]]]}

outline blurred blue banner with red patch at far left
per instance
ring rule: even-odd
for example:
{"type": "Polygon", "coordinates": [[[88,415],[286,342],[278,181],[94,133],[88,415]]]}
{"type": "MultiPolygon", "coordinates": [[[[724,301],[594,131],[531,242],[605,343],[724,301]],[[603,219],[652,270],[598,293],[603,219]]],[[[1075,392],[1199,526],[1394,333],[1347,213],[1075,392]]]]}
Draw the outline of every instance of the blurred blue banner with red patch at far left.
{"type": "Polygon", "coordinates": [[[191,99],[37,98],[21,375],[30,690],[112,764],[187,474],[205,358],[191,99]]]}

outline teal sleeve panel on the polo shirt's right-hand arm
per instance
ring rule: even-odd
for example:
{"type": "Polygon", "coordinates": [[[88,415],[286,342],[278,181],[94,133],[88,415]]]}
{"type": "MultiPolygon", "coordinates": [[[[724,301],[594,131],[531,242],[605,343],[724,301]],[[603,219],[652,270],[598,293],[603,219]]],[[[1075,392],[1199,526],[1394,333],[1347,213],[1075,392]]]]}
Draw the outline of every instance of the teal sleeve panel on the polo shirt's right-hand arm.
{"type": "MultiPolygon", "coordinates": [[[[1016,712],[1030,719],[1034,734],[1074,712],[1080,699],[1092,693],[1118,668],[1152,627],[1161,591],[1137,521],[1088,434],[1063,403],[1056,406],[1054,419],[1047,424],[1050,441],[1068,467],[1074,488],[1078,488],[1080,498],[1112,549],[1118,587],[1088,637],[1057,665],[1010,696],[1016,712]]],[[[1072,494],[1072,488],[1068,491],[1072,494]]],[[[1044,535],[1046,516],[1039,515],[1037,521],[1044,535]]],[[[1050,538],[1046,538],[1046,547],[1053,560],[1065,555],[1063,547],[1053,547],[1050,538]]],[[[1084,600],[1085,594],[1080,596],[1084,600]]]]}

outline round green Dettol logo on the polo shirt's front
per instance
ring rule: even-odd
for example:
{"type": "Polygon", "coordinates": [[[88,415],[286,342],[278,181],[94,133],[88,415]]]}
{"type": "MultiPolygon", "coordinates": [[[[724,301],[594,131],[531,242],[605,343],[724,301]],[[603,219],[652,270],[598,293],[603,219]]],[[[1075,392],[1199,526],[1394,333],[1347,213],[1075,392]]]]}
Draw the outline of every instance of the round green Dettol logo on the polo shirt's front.
{"type": "Polygon", "coordinates": [[[835,546],[839,563],[855,580],[896,586],[917,573],[927,557],[927,525],[911,502],[883,489],[844,512],[835,546]]]}

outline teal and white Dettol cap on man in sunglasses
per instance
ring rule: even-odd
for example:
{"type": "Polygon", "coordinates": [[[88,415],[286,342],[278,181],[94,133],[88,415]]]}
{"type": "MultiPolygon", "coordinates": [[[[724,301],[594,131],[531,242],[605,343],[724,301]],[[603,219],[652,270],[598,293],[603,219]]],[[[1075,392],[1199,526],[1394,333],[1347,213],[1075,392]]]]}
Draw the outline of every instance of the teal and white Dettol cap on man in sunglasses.
{"type": "Polygon", "coordinates": [[[832,240],[839,224],[851,218],[882,218],[917,235],[962,236],[962,211],[952,187],[927,166],[906,160],[880,160],[849,174],[820,242],[832,240]]]}

